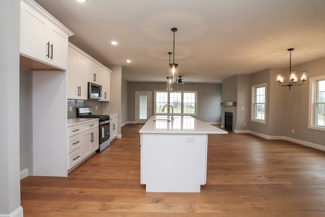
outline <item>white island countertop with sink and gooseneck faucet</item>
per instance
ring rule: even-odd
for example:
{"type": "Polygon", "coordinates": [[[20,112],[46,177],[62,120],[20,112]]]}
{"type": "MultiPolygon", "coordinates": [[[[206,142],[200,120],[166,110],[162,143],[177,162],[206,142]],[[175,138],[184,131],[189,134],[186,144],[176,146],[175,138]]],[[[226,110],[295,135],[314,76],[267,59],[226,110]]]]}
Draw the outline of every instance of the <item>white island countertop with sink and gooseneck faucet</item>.
{"type": "Polygon", "coordinates": [[[153,115],[140,129],[139,133],[157,134],[228,134],[191,116],[174,116],[174,121],[167,122],[171,115],[153,115]],[[156,120],[156,121],[153,121],[156,120]]]}

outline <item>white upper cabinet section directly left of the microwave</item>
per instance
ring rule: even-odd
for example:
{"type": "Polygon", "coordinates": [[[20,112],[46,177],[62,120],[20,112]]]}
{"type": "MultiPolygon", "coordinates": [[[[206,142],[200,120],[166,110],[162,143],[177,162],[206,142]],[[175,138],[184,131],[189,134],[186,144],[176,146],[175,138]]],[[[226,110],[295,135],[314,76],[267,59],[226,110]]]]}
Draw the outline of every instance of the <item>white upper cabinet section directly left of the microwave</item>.
{"type": "Polygon", "coordinates": [[[88,59],[73,44],[69,44],[67,70],[67,97],[68,99],[87,100],[87,66],[88,59]]]}

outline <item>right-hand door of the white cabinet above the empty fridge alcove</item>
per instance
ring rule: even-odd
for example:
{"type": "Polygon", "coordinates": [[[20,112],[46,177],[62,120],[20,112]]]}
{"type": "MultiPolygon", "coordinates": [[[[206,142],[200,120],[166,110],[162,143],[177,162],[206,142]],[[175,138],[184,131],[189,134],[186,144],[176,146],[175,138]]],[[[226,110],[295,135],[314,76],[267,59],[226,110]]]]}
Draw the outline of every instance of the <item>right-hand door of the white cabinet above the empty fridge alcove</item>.
{"type": "Polygon", "coordinates": [[[56,25],[49,24],[49,63],[61,69],[68,68],[68,36],[56,25]]]}

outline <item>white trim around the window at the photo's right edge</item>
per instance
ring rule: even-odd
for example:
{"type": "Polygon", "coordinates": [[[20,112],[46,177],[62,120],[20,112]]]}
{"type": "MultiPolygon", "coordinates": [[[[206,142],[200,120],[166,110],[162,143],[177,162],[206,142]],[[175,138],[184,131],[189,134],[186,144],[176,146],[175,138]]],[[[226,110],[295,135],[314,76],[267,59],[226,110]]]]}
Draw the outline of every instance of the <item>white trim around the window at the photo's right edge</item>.
{"type": "Polygon", "coordinates": [[[318,80],[324,80],[325,75],[309,79],[309,109],[308,109],[308,128],[313,130],[325,131],[325,127],[315,125],[316,110],[316,83],[318,80]]]}

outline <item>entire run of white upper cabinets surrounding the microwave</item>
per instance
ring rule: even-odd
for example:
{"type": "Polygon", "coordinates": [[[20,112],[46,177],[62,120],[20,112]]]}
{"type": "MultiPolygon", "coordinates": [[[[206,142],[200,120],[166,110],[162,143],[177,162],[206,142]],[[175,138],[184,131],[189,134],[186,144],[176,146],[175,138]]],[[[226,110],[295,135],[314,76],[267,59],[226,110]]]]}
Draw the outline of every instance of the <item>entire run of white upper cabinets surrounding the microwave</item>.
{"type": "Polygon", "coordinates": [[[100,101],[109,101],[111,70],[71,43],[68,53],[68,99],[87,100],[88,82],[91,82],[102,85],[100,101]]]}

